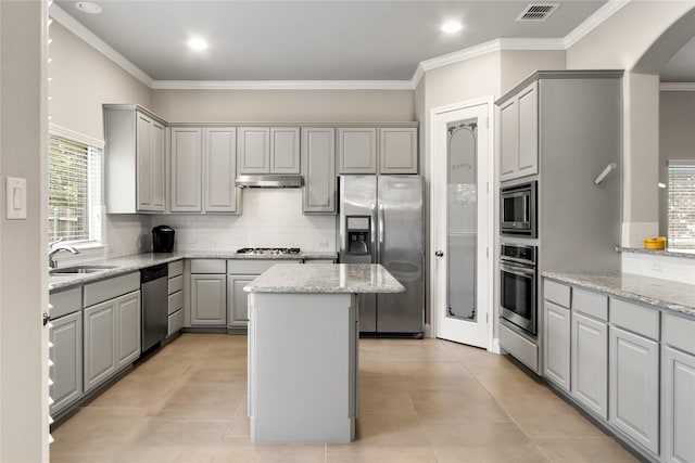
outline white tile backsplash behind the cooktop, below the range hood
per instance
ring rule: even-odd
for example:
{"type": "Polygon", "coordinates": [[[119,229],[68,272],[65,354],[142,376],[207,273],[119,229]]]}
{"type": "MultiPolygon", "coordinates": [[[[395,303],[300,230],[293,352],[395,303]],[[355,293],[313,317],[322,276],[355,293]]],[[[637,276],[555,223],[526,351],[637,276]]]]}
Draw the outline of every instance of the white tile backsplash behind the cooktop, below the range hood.
{"type": "Polygon", "coordinates": [[[248,189],[242,194],[240,216],[152,216],[152,227],[173,227],[178,250],[270,246],[336,250],[336,216],[303,215],[301,189],[248,189]]]}

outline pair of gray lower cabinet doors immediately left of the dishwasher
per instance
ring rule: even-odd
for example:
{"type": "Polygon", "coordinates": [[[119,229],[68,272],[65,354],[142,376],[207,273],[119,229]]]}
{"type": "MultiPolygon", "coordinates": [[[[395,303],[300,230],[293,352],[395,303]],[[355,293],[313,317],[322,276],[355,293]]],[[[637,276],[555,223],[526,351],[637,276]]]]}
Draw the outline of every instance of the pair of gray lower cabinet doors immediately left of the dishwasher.
{"type": "Polygon", "coordinates": [[[140,356],[140,291],[84,310],[85,393],[140,356]]]}

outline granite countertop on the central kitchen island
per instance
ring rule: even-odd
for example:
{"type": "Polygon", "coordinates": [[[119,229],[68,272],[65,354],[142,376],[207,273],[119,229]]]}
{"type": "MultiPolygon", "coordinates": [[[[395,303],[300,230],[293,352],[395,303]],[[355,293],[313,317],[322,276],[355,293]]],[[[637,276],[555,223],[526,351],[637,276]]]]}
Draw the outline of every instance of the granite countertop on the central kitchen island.
{"type": "Polygon", "coordinates": [[[244,286],[247,293],[402,293],[405,287],[379,263],[277,265],[244,286]]]}

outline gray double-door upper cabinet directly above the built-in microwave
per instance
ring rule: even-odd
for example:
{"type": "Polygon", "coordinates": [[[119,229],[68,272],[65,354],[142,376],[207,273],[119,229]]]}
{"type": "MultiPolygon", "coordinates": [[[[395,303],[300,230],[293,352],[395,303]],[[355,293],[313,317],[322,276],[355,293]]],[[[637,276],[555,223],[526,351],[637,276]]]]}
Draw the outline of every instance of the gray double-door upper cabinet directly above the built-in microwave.
{"type": "Polygon", "coordinates": [[[539,171],[538,81],[500,106],[500,180],[511,180],[539,171]]]}

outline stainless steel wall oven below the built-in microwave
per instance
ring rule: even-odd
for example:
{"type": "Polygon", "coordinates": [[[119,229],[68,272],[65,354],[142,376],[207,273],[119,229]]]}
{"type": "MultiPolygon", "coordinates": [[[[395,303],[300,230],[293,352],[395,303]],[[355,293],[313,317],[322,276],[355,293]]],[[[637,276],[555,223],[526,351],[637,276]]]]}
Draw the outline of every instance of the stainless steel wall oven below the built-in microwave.
{"type": "Polygon", "coordinates": [[[538,334],[536,270],[535,246],[501,246],[500,317],[533,337],[538,334]]]}

